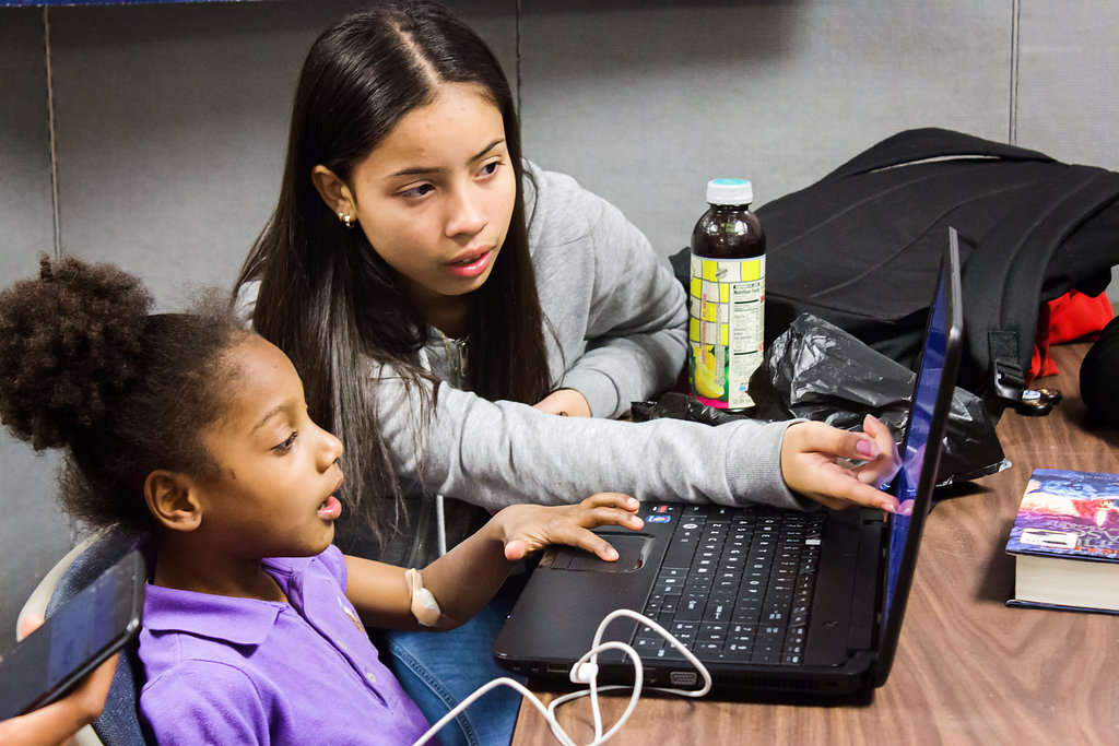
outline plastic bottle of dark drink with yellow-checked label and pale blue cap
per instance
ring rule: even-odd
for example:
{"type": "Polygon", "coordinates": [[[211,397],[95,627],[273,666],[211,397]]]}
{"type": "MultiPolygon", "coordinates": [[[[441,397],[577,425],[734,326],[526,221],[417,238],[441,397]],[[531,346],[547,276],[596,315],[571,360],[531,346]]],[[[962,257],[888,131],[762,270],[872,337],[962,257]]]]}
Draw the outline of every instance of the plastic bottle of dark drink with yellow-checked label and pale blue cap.
{"type": "Polygon", "coordinates": [[[762,360],[765,233],[753,198],[744,179],[708,181],[711,208],[692,232],[688,380],[696,399],[728,412],[753,406],[749,381],[762,360]]]}

